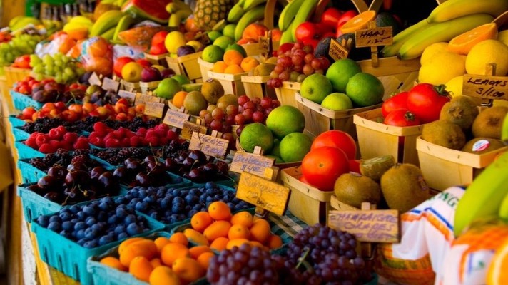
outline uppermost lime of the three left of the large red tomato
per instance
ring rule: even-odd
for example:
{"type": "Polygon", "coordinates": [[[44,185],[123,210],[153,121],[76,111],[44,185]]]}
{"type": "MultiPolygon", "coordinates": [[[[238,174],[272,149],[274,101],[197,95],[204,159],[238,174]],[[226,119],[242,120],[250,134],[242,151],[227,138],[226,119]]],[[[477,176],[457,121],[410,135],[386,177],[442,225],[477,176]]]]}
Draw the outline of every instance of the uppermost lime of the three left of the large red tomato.
{"type": "Polygon", "coordinates": [[[293,106],[279,106],[268,114],[266,125],[276,138],[282,139],[290,133],[301,133],[305,128],[305,117],[293,106]]]}

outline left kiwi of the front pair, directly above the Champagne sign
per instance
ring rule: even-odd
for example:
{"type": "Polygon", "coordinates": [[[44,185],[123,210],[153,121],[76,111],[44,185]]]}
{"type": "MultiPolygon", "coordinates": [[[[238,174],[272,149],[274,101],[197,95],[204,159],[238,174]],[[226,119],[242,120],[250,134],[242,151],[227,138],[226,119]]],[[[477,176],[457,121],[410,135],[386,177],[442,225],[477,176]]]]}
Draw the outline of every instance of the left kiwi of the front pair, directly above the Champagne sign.
{"type": "Polygon", "coordinates": [[[381,200],[380,185],[369,177],[355,172],[340,175],[335,180],[333,191],[341,202],[358,209],[362,207],[362,202],[379,204],[381,200]]]}

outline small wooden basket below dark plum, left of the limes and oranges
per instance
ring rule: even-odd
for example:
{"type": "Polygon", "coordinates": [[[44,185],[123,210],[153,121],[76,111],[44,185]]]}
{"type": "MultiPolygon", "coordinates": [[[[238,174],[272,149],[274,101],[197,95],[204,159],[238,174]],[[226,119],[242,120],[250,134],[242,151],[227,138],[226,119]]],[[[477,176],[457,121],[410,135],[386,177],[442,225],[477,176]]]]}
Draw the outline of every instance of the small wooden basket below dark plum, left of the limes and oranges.
{"type": "MultiPolygon", "coordinates": [[[[197,53],[188,54],[187,56],[178,56],[178,58],[166,56],[166,61],[168,63],[168,67],[173,69],[176,74],[187,76],[189,80],[194,83],[203,82],[205,81],[205,78],[203,78],[203,68],[200,68],[200,58],[202,53],[203,51],[199,51],[197,53]]],[[[203,63],[207,62],[203,61],[203,63]]],[[[211,70],[213,68],[213,63],[210,64],[212,65],[210,67],[211,70]]]]}

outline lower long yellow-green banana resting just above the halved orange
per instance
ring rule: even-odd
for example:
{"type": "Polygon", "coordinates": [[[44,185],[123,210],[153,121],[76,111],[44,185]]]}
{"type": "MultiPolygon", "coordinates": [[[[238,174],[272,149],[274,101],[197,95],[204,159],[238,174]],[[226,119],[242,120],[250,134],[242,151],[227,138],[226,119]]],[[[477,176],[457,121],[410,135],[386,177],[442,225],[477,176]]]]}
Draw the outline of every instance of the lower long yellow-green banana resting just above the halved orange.
{"type": "Polygon", "coordinates": [[[423,31],[415,33],[407,39],[400,47],[397,57],[400,59],[417,58],[432,43],[449,41],[472,28],[490,23],[493,19],[489,14],[473,14],[427,26],[423,31]]]}

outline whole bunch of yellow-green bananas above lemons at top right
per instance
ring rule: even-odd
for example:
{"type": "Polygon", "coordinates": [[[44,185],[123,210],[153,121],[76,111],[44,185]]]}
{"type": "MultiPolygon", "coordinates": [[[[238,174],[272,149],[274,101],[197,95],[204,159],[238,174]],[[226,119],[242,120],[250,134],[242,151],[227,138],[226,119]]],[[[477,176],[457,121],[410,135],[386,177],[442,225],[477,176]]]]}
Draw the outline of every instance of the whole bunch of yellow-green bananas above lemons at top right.
{"type": "Polygon", "coordinates": [[[411,59],[421,56],[432,43],[450,41],[461,33],[487,24],[508,10],[507,0],[448,0],[437,6],[427,19],[406,28],[385,46],[383,56],[411,59]]]}

